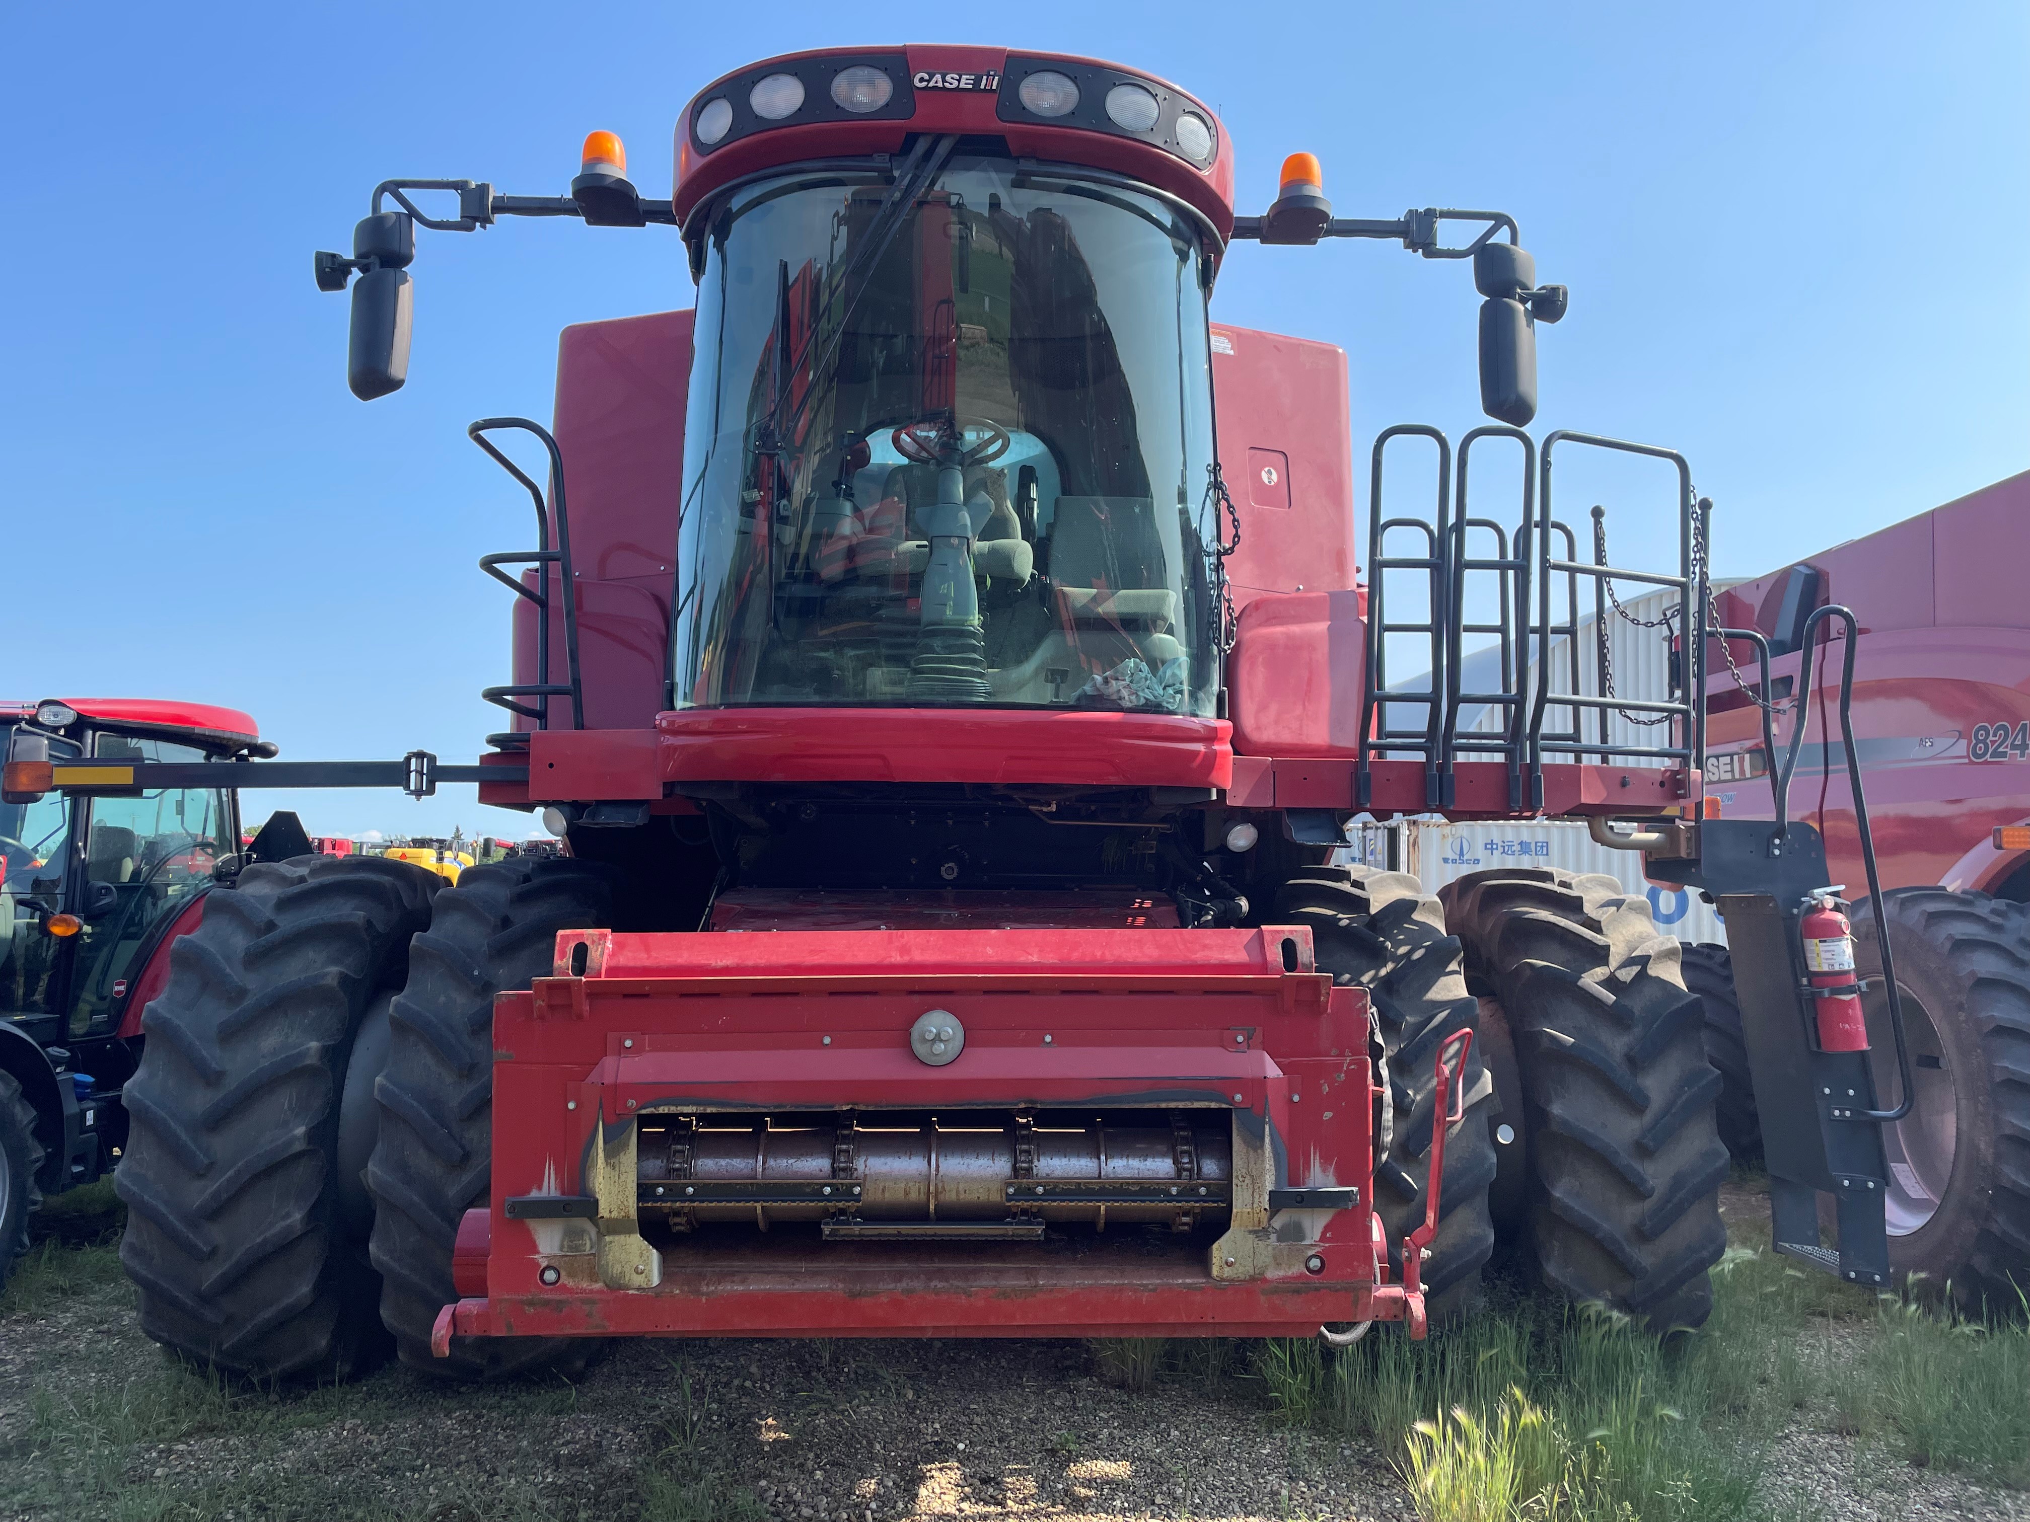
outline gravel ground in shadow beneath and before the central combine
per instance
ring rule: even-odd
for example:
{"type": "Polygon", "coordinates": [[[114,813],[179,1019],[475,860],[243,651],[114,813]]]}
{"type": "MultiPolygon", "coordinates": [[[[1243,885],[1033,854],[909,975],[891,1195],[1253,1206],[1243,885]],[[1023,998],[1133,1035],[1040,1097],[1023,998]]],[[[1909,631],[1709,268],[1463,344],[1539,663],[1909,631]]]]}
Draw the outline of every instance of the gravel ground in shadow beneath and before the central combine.
{"type": "MultiPolygon", "coordinates": [[[[231,1394],[138,1333],[110,1250],[75,1260],[0,1315],[0,1518],[1413,1518],[1380,1453],[1277,1427],[1238,1366],[1129,1392],[1064,1341],[633,1341],[577,1388],[231,1394]]],[[[1801,1335],[1837,1366],[1866,1329],[1801,1335]]],[[[1776,1445],[1784,1510],[2030,1522],[1827,1425],[1776,1445]]]]}

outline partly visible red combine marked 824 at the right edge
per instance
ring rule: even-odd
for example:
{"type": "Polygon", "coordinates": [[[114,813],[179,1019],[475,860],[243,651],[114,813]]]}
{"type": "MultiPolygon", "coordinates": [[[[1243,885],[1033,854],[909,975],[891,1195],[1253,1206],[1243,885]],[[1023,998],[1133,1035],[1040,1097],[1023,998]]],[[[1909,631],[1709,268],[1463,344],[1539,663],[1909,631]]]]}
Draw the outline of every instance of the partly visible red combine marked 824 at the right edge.
{"type": "MultiPolygon", "coordinates": [[[[1827,842],[1831,877],[1859,885],[1845,759],[1825,743],[1827,653],[1807,678],[1801,631],[1831,601],[1862,621],[1855,755],[1888,893],[1862,905],[1857,970],[1880,1045],[1876,919],[1888,905],[1916,1076],[1914,1110],[1888,1132],[1890,1262],[2002,1307],[2030,1289],[2030,623],[2014,576],[2026,550],[2030,473],[1719,593],[1719,615],[1768,641],[1772,686],[1725,670],[1707,680],[1707,787],[1725,814],[1772,818],[1768,700],[1778,743],[1801,718],[1817,733],[1799,761],[1801,812],[1827,842]]],[[[1734,653],[1752,664],[1752,645],[1734,653]]],[[[1721,1136],[1754,1157],[1784,1102],[1756,1104],[1725,948],[1685,956],[1728,1084],[1721,1136]]]]}

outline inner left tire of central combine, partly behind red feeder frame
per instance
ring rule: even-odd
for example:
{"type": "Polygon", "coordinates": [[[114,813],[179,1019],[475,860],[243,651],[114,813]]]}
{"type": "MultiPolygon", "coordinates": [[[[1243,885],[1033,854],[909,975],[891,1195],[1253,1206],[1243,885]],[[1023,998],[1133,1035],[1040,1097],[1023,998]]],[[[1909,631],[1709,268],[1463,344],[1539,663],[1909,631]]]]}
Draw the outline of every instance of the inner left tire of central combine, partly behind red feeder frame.
{"type": "Polygon", "coordinates": [[[388,1011],[380,1134],[367,1165],[382,1321],[404,1364],[457,1380],[581,1370],[583,1337],[455,1337],[430,1356],[438,1311],[459,1299],[459,1220],[493,1181],[493,994],[548,976],[556,931],[613,923],[613,875],[570,856],[467,867],[436,895],[388,1011]]]}

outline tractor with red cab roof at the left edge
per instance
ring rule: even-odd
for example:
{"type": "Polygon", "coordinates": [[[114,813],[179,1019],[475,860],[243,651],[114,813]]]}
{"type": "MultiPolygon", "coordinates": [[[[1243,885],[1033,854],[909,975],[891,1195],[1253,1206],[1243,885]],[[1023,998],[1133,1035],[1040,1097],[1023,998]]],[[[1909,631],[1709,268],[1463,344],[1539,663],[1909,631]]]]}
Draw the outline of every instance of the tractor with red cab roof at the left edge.
{"type": "MultiPolygon", "coordinates": [[[[168,982],[168,948],[205,917],[240,862],[240,804],[219,763],[272,757],[233,708],[154,698],[0,704],[10,761],[195,765],[191,785],[89,802],[0,798],[0,1281],[37,1199],[91,1183],[120,1159],[122,1090],[140,1059],[142,1009],[168,982]],[[209,785],[207,785],[209,783],[209,785]]],[[[290,830],[296,834],[290,836],[290,830]]],[[[278,816],[254,848],[296,854],[278,816]]]]}

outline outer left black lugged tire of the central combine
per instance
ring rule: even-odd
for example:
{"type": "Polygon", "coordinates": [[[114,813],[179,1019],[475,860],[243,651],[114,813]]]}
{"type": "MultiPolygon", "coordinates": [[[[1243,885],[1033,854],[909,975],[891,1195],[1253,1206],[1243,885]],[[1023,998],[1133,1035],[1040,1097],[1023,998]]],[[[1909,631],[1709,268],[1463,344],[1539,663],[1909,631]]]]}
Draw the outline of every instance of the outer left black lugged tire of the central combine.
{"type": "Polygon", "coordinates": [[[353,1037],[406,976],[436,887],[378,856],[256,864],[171,950],[114,1173],[120,1262],[164,1347],[256,1380],[343,1380],[386,1352],[339,1112],[353,1037]]]}

